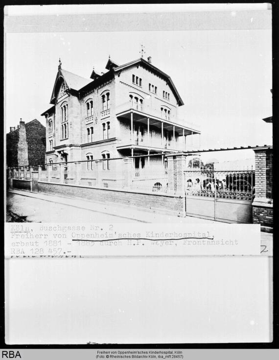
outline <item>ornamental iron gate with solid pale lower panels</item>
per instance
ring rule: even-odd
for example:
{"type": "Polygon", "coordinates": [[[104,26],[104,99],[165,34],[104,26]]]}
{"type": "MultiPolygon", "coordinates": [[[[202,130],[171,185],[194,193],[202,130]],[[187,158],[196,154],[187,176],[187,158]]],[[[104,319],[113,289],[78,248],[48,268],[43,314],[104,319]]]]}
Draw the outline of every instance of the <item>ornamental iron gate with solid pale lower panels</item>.
{"type": "Polygon", "coordinates": [[[255,171],[184,171],[186,215],[230,223],[252,223],[255,171]]]}

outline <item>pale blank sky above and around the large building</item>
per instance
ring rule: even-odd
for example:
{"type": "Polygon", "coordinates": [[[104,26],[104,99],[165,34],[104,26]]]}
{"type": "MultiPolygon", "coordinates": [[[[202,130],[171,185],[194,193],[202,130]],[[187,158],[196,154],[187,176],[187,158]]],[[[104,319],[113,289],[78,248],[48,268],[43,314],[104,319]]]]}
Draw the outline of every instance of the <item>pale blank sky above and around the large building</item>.
{"type": "Polygon", "coordinates": [[[93,67],[106,72],[109,55],[118,64],[139,58],[143,44],[144,58],[171,76],[185,103],[179,118],[201,126],[201,148],[272,144],[272,125],[262,120],[272,115],[271,42],[271,30],[251,29],[8,33],[6,129],[20,118],[45,125],[59,58],[89,78],[93,67]]]}

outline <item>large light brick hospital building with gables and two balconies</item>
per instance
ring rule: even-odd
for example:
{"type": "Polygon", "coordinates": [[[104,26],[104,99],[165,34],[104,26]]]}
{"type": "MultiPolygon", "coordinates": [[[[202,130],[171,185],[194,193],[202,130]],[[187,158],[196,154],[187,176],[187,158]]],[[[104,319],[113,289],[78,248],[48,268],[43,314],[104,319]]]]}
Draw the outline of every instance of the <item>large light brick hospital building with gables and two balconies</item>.
{"type": "MultiPolygon", "coordinates": [[[[82,163],[82,172],[92,171],[90,160],[103,160],[102,170],[113,170],[111,158],[134,159],[133,167],[163,169],[164,153],[183,151],[200,130],[178,119],[184,105],[170,76],[148,60],[137,59],[118,65],[111,58],[107,72],[83,78],[62,69],[59,60],[46,118],[46,161],[50,164],[82,163]],[[140,155],[160,154],[157,157],[140,155]]],[[[122,163],[121,163],[122,164],[122,163]]],[[[113,168],[115,167],[115,168],[113,168]]],[[[55,168],[55,166],[54,166],[55,168]]],[[[110,175],[111,176],[111,175],[110,175]]]]}

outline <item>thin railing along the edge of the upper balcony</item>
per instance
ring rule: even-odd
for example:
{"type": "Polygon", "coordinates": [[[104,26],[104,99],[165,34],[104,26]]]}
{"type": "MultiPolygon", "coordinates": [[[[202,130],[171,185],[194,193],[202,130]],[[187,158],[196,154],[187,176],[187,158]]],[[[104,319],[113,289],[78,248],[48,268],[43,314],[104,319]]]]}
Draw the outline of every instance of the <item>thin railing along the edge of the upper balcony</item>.
{"type": "Polygon", "coordinates": [[[129,110],[137,110],[140,111],[146,115],[149,115],[150,118],[155,117],[162,119],[163,121],[168,121],[173,123],[174,125],[181,126],[182,128],[192,129],[193,131],[199,131],[200,132],[200,125],[197,125],[193,122],[187,121],[185,119],[180,119],[175,116],[172,112],[170,114],[162,114],[160,107],[151,107],[149,104],[141,104],[140,102],[135,103],[132,101],[124,102],[123,104],[120,104],[116,107],[116,115],[123,113],[125,111],[129,110]]]}

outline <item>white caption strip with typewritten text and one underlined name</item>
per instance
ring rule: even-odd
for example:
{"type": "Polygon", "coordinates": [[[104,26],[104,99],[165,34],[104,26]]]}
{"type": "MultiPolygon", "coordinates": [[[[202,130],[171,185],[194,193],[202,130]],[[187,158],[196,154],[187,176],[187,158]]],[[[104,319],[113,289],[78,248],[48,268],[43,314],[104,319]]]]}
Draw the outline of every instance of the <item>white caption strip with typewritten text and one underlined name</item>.
{"type": "Polygon", "coordinates": [[[251,224],[5,224],[8,258],[260,255],[261,250],[260,226],[251,224]]]}

